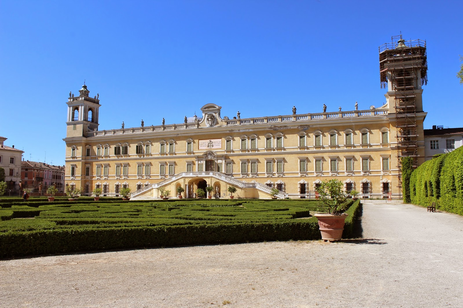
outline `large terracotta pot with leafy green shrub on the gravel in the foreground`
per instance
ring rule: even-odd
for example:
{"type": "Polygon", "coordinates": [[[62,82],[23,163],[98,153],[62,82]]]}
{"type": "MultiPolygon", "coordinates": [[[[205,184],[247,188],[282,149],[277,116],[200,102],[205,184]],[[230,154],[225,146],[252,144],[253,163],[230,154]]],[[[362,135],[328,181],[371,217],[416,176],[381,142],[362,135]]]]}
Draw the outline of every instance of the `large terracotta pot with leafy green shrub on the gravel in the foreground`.
{"type": "Polygon", "coordinates": [[[349,202],[343,191],[344,184],[337,179],[325,180],[316,188],[319,199],[325,204],[328,213],[315,214],[319,223],[322,240],[340,240],[343,235],[344,221],[347,214],[344,210],[349,202]]]}

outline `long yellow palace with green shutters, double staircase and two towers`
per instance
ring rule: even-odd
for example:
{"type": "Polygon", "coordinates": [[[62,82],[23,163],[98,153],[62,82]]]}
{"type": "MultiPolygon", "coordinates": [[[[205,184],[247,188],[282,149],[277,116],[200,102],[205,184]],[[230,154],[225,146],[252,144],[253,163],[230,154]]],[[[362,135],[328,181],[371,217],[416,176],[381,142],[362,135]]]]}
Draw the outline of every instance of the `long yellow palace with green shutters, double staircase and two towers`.
{"type": "Polygon", "coordinates": [[[417,48],[422,57],[422,46],[403,40],[383,54],[380,48],[386,103],[368,110],[229,118],[207,104],[183,123],[98,130],[100,100],[84,85],[67,102],[66,185],[82,195],[100,187],[103,196],[129,187],[132,198],[157,198],[161,190],[175,197],[179,186],[188,198],[206,186],[216,198],[230,196],[229,186],[244,198],[270,198],[271,188],[278,198],[312,198],[321,181],[335,178],[360,197],[398,197],[400,157],[424,161],[425,62],[406,68],[417,48]],[[411,117],[410,93],[413,123],[400,117],[411,117]]]}

